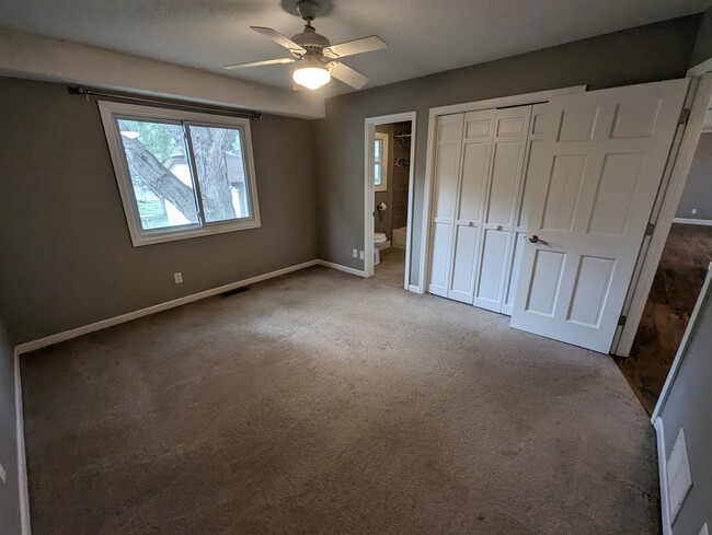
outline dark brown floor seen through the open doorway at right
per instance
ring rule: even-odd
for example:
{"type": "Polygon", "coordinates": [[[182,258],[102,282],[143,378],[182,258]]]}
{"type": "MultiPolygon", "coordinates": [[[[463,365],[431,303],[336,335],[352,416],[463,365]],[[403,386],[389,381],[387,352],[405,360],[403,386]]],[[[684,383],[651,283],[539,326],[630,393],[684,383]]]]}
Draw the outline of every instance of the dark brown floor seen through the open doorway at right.
{"type": "Polygon", "coordinates": [[[653,412],[712,261],[712,226],[674,224],[628,359],[618,367],[653,412]]]}

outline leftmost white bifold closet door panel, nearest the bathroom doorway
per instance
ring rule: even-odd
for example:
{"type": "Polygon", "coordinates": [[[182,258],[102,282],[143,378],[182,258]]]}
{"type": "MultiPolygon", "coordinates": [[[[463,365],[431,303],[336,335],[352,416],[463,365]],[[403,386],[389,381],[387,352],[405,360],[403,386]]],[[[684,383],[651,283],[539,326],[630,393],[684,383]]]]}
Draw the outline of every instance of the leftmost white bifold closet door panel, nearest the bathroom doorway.
{"type": "Polygon", "coordinates": [[[433,209],[430,212],[430,265],[428,292],[447,296],[451,236],[460,172],[463,114],[437,119],[433,209]]]}

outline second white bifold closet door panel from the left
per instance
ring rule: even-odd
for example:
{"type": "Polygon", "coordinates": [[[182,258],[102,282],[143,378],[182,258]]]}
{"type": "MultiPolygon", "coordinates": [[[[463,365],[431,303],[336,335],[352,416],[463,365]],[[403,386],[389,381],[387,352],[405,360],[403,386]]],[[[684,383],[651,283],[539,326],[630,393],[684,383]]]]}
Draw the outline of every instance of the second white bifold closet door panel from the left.
{"type": "Polygon", "coordinates": [[[447,296],[472,303],[484,195],[490,175],[494,109],[464,115],[455,224],[452,225],[451,277],[447,296]]]}

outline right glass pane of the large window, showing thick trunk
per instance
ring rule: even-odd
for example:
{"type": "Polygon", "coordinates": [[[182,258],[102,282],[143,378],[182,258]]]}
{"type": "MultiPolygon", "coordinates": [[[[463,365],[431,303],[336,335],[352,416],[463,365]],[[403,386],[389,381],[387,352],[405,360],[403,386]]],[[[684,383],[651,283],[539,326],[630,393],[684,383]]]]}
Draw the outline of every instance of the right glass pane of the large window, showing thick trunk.
{"type": "Polygon", "coordinates": [[[240,130],[191,126],[190,133],[205,220],[251,217],[240,130]]]}

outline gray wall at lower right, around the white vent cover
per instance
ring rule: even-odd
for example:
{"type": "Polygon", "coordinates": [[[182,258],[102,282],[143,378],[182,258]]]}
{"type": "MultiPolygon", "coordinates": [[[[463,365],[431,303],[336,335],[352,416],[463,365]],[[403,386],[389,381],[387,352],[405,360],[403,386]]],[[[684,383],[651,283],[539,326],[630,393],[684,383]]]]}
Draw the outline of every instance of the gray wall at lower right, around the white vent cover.
{"type": "MultiPolygon", "coordinates": [[[[709,276],[709,275],[708,275],[709,276]]],[[[712,299],[700,310],[687,354],[661,414],[665,424],[665,457],[680,428],[685,429],[692,489],[673,526],[674,535],[697,535],[712,528],[712,299]]]]}

